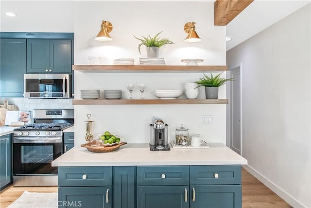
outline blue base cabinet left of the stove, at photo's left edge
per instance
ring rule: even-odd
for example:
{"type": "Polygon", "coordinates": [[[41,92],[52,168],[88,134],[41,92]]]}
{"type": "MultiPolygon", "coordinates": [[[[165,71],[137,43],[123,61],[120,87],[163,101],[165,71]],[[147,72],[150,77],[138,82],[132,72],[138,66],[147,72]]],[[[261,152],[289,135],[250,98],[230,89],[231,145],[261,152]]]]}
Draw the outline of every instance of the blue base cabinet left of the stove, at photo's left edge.
{"type": "Polygon", "coordinates": [[[0,189],[12,183],[12,134],[0,136],[0,189]]]}

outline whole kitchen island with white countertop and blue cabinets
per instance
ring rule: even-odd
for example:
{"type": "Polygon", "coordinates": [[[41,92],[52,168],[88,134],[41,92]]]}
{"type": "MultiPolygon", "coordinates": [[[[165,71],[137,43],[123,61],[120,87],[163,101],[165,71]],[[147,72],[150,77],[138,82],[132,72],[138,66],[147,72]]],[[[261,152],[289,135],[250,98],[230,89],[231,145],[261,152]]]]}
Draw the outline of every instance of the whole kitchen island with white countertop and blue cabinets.
{"type": "Polygon", "coordinates": [[[247,160],[221,143],[208,145],[150,151],[148,144],[126,144],[104,153],[74,147],[52,162],[59,207],[242,207],[247,160]]]}

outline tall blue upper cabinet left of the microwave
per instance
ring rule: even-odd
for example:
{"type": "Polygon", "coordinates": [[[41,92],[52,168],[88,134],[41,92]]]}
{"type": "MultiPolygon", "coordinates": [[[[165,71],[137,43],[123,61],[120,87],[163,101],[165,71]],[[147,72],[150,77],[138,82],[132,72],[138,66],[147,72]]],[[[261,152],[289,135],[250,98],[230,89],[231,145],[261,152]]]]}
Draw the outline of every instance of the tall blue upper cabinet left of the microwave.
{"type": "Polygon", "coordinates": [[[2,39],[0,97],[22,97],[26,74],[26,39],[2,39]]]}

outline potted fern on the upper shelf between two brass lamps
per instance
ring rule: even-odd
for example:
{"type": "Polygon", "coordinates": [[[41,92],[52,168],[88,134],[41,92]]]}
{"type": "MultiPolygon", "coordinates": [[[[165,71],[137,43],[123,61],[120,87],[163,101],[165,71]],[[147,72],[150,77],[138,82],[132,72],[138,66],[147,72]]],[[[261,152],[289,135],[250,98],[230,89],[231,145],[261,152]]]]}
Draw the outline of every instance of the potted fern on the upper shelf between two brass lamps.
{"type": "Polygon", "coordinates": [[[136,36],[134,36],[134,38],[138,39],[141,41],[141,43],[139,43],[138,45],[138,52],[139,54],[141,54],[140,52],[140,46],[145,45],[147,47],[147,57],[159,57],[159,51],[160,51],[160,47],[165,45],[165,44],[174,44],[173,41],[169,40],[169,38],[160,38],[158,37],[160,35],[160,33],[162,33],[163,31],[157,33],[155,35],[155,37],[151,38],[151,36],[141,36],[142,38],[137,38],[136,36]]]}

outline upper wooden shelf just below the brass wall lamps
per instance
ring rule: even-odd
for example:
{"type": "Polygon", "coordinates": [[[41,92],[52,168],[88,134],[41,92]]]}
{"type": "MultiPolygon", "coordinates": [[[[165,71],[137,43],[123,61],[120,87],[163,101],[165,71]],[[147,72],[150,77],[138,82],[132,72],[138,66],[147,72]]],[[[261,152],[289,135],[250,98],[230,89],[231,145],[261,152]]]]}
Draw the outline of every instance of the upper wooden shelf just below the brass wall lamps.
{"type": "Polygon", "coordinates": [[[205,72],[226,71],[227,66],[187,65],[72,65],[72,70],[82,72],[205,72]]]}

